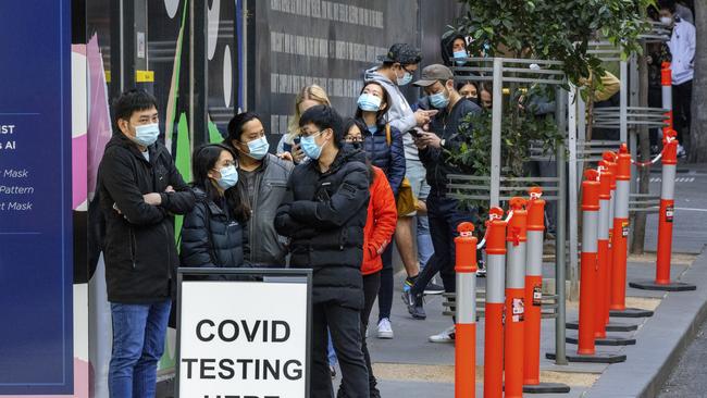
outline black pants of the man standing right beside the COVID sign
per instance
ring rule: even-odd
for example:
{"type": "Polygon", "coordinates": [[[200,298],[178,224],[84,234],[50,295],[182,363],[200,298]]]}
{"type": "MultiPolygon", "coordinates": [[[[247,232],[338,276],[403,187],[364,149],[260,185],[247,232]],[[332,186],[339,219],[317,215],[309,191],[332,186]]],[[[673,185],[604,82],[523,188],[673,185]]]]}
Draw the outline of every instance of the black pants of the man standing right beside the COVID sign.
{"type": "Polygon", "coordinates": [[[328,335],[342,369],[342,384],[351,398],[369,398],[369,372],[361,351],[361,311],[335,301],[312,306],[311,398],[333,398],[326,347],[328,335]]]}

